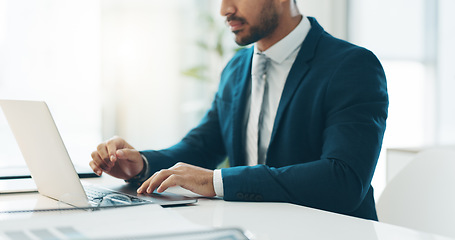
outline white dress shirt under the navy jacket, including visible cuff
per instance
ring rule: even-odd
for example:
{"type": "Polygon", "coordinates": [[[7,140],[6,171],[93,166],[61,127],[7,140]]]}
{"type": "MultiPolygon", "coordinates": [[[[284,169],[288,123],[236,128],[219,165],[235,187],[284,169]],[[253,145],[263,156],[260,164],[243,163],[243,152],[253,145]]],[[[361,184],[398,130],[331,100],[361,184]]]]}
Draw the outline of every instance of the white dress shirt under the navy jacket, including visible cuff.
{"type": "MultiPolygon", "coordinates": [[[[264,154],[267,152],[270,138],[273,130],[273,123],[275,121],[276,113],[278,110],[278,105],[280,103],[281,94],[286,83],[289,71],[291,70],[292,64],[294,63],[297,54],[302,45],[303,39],[310,31],[311,24],[310,21],[303,17],[299,25],[292,30],[286,37],[281,39],[279,42],[275,43],[266,51],[262,52],[268,58],[270,58],[269,66],[267,69],[267,83],[268,91],[267,95],[264,98],[268,101],[266,105],[267,108],[263,109],[264,121],[267,121],[272,124],[267,124],[267,126],[259,126],[261,129],[261,136],[265,136],[266,141],[261,141],[259,149],[260,152],[264,154]]],[[[259,50],[257,46],[254,46],[253,62],[255,61],[255,56],[259,50]]],[[[253,63],[254,64],[254,63],[253,63]]],[[[250,100],[248,100],[249,105],[250,100]]],[[[249,108],[247,109],[246,115],[249,114],[249,108]]],[[[246,126],[246,124],[245,124],[246,126]]],[[[262,139],[262,138],[261,138],[262,139]]],[[[267,161],[267,159],[266,159],[267,161]]],[[[249,166],[257,165],[257,162],[247,162],[249,166]]],[[[221,169],[216,169],[213,173],[213,186],[215,188],[215,193],[218,197],[224,196],[223,190],[223,179],[221,175],[221,169]]]]}

